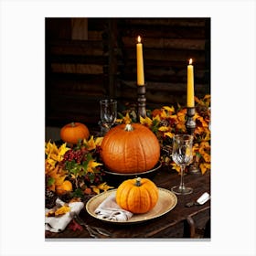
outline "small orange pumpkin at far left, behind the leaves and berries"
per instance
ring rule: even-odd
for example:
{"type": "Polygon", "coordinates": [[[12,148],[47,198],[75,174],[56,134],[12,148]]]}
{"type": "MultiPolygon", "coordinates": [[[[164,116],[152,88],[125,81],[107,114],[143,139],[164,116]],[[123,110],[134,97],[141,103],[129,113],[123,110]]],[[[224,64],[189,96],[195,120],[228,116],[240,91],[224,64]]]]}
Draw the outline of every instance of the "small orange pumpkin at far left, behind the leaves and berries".
{"type": "Polygon", "coordinates": [[[83,123],[68,123],[60,129],[61,140],[69,144],[78,144],[79,140],[87,140],[89,136],[89,129],[83,123]]]}

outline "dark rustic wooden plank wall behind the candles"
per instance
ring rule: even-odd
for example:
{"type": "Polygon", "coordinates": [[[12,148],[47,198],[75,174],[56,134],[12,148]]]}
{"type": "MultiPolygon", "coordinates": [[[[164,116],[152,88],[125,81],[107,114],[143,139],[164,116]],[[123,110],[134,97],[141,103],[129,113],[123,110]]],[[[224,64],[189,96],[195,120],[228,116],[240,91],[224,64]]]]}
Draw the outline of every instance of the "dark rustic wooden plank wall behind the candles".
{"type": "Polygon", "coordinates": [[[187,61],[195,95],[210,92],[209,18],[46,18],[46,123],[95,125],[99,101],[136,103],[136,37],[144,43],[146,106],[186,104],[187,61]]]}

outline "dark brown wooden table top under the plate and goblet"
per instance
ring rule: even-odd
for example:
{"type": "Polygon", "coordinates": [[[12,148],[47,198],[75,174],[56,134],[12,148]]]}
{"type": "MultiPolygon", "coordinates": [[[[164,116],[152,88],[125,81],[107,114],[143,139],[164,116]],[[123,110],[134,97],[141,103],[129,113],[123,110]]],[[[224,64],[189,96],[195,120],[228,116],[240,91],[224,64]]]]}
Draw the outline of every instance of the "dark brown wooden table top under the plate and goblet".
{"type": "MultiPolygon", "coordinates": [[[[180,176],[176,171],[165,167],[159,169],[151,179],[157,187],[170,189],[170,187],[179,184],[180,176]]],[[[191,200],[196,200],[206,191],[210,194],[210,172],[205,175],[187,174],[185,184],[193,187],[194,192],[186,196],[177,196],[176,207],[157,219],[131,225],[112,224],[92,218],[85,209],[81,210],[80,218],[91,226],[109,230],[113,239],[198,238],[197,230],[204,230],[210,219],[210,200],[203,206],[187,208],[186,204],[191,200]]],[[[46,238],[49,240],[63,238],[92,239],[85,228],[75,231],[65,229],[59,233],[46,231],[46,238]]]]}

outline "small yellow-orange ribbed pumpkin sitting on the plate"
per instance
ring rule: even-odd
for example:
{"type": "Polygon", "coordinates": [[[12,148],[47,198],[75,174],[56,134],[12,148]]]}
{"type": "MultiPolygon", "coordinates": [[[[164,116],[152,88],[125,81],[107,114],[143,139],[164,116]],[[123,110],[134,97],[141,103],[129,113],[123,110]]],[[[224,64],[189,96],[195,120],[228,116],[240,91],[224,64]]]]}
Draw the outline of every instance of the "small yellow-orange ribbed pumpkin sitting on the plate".
{"type": "Polygon", "coordinates": [[[155,207],[159,194],[155,183],[148,178],[133,178],[123,181],[117,188],[117,204],[133,213],[145,213],[155,207]]]}

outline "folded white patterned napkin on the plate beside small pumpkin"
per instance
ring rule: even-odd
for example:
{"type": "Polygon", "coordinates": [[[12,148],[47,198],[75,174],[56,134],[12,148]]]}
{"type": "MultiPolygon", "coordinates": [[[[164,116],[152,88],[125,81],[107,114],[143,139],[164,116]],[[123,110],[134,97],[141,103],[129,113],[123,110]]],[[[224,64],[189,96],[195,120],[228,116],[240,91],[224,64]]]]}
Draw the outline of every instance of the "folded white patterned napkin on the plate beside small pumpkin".
{"type": "Polygon", "coordinates": [[[94,211],[101,219],[126,221],[133,217],[133,213],[121,208],[115,200],[115,193],[101,202],[94,211]]]}

